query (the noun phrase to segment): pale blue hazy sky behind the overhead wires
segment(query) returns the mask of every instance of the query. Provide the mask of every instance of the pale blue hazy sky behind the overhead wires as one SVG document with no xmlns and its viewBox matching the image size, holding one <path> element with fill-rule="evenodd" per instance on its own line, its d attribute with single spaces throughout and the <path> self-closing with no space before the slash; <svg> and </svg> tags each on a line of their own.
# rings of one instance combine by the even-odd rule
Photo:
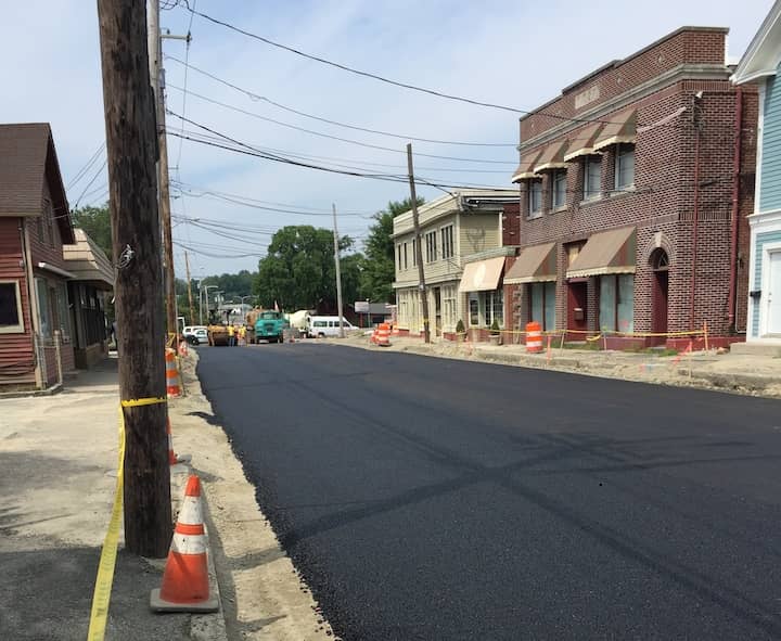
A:
<svg viewBox="0 0 781 641">
<path fill-rule="evenodd" d="M 430 0 L 334 0 L 278 2 L 190 0 L 190 5 L 248 31 L 389 78 L 482 101 L 535 108 L 598 66 L 631 54 L 682 25 L 730 28 L 729 56 L 737 60 L 759 27 L 771 0 L 658 0 L 642 11 L 625 0 L 588 3 L 551 0 L 545 12 L 532 2 Z M 174 4 L 174 0 L 164 0 Z M 162 12 L 164 28 L 184 34 L 191 14 L 182 7 Z M 508 143 L 470 148 L 414 143 L 417 154 L 458 156 L 469 162 L 417 157 L 418 172 L 450 183 L 509 188 L 517 161 L 517 115 L 423 95 L 360 78 L 273 49 L 210 24 L 192 21 L 189 61 L 251 93 L 342 123 L 405 136 Z M 185 46 L 166 40 L 167 55 L 184 59 Z M 0 23 L 0 78 L 5 88 L 0 121 L 50 121 L 66 184 L 104 140 L 98 18 L 94 1 L 27 0 L 7 3 Z M 189 91 L 256 115 L 329 136 L 393 148 L 383 151 L 295 131 L 230 111 L 190 94 L 182 104 L 184 69 L 166 61 L 168 107 L 196 123 L 264 149 L 315 156 L 370 172 L 401 174 L 405 140 L 354 131 L 280 110 L 190 69 Z M 182 123 L 169 116 L 168 128 Z M 185 125 L 187 130 L 197 130 Z M 202 131 L 203 133 L 203 131 Z M 180 151 L 181 149 L 181 151 Z M 323 159 L 323 158 L 331 159 Z M 338 158 L 338 159 L 333 159 Z M 105 198 L 103 157 L 68 190 L 72 206 Z M 340 232 L 360 241 L 370 216 L 389 200 L 408 195 L 404 183 L 381 182 L 281 165 L 169 138 L 175 190 L 177 275 L 184 275 L 183 245 L 194 275 L 255 270 L 270 234 L 285 225 L 331 227 L 331 203 Z M 498 161 L 485 163 L 479 161 Z M 87 183 L 94 182 L 87 189 Z M 293 205 L 315 216 L 247 208 L 203 196 L 206 191 Z M 422 195 L 439 193 L 422 188 Z M 82 195 L 84 194 L 84 195 Z M 200 196 L 200 197 L 199 197 Z M 270 205 L 273 207 L 274 205 Z M 279 208 L 290 207 L 282 206 Z M 196 219 L 188 222 L 185 219 Z M 201 219 L 199 221 L 197 219 Z M 217 235 L 199 225 L 241 235 Z M 232 228 L 244 227 L 238 233 Z M 218 257 L 210 257 L 213 254 Z M 241 258 L 232 258 L 249 254 Z"/>
</svg>

